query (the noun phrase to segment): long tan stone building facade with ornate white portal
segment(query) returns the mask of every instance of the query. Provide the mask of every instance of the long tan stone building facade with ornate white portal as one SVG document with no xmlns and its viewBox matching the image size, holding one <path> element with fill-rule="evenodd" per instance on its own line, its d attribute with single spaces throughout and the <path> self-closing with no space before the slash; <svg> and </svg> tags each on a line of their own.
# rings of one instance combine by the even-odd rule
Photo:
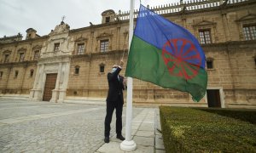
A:
<svg viewBox="0 0 256 153">
<path fill-rule="evenodd" d="M 181 1 L 151 8 L 201 42 L 207 94 L 195 103 L 188 93 L 134 79 L 134 103 L 256 108 L 255 8 L 253 0 Z M 61 21 L 43 37 L 29 28 L 25 40 L 20 34 L 0 38 L 0 96 L 50 102 L 105 99 L 108 71 L 123 56 L 127 61 L 128 30 L 129 13 L 110 9 L 102 13 L 102 24 L 70 29 Z"/>
</svg>

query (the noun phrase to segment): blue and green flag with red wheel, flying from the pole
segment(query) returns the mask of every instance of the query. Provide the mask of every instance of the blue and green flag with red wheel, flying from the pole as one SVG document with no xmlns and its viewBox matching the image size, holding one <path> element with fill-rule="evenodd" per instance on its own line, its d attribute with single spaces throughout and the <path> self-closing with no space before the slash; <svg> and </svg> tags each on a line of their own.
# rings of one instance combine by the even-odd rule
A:
<svg viewBox="0 0 256 153">
<path fill-rule="evenodd" d="M 200 101 L 207 90 L 205 54 L 182 26 L 140 6 L 125 76 L 188 92 Z"/>
</svg>

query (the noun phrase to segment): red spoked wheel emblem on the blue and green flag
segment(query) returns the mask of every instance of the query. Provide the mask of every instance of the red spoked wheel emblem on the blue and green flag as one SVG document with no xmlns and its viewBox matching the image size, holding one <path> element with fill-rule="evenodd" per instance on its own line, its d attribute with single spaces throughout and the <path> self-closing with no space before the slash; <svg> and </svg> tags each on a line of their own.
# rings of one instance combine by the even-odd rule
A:
<svg viewBox="0 0 256 153">
<path fill-rule="evenodd" d="M 195 45 L 187 39 L 171 39 L 162 48 L 162 58 L 172 76 L 186 80 L 198 74 L 201 56 Z"/>
</svg>

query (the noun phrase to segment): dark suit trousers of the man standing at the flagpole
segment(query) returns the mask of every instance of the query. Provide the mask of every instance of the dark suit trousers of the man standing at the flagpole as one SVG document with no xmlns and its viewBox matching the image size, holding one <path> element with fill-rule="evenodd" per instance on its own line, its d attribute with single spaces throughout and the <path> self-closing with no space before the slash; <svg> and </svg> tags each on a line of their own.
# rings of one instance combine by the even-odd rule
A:
<svg viewBox="0 0 256 153">
<path fill-rule="evenodd" d="M 122 134 L 122 113 L 123 113 L 123 103 L 119 97 L 118 101 L 107 101 L 107 115 L 105 117 L 105 137 L 109 137 L 110 133 L 110 123 L 112 121 L 113 110 L 115 109 L 116 115 L 116 134 Z"/>
</svg>

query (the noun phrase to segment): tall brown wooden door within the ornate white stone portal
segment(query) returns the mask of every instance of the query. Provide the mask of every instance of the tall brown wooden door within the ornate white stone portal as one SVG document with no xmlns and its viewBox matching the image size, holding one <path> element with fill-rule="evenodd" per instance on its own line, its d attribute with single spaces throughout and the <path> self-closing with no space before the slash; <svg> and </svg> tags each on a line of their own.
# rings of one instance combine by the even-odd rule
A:
<svg viewBox="0 0 256 153">
<path fill-rule="evenodd" d="M 46 75 L 43 101 L 49 101 L 51 99 L 52 90 L 55 89 L 56 80 L 57 80 L 57 73 Z"/>
</svg>

